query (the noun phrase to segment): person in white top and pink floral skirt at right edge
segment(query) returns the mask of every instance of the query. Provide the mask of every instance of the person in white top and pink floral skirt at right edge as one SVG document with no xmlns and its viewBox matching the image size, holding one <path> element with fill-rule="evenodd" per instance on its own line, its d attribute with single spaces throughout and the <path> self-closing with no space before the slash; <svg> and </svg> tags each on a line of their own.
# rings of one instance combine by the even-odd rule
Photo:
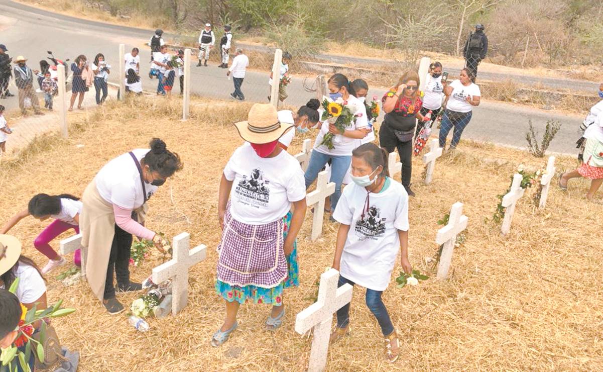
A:
<svg viewBox="0 0 603 372">
<path fill-rule="evenodd" d="M 599 114 L 595 122 L 584 131 L 584 154 L 582 165 L 572 172 L 563 173 L 559 178 L 559 187 L 567 190 L 567 181 L 572 178 L 590 179 L 590 190 L 586 199 L 593 200 L 595 193 L 603 184 L 603 115 Z"/>
</svg>

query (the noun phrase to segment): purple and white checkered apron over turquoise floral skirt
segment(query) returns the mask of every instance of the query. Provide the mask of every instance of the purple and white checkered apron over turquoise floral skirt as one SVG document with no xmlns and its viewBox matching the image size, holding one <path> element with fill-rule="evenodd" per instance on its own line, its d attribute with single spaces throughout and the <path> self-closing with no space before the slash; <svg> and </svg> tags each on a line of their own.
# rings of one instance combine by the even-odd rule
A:
<svg viewBox="0 0 603 372">
<path fill-rule="evenodd" d="M 283 219 L 266 225 L 247 225 L 233 219 L 230 205 L 218 245 L 218 280 L 232 286 L 272 288 L 285 280 Z"/>
</svg>

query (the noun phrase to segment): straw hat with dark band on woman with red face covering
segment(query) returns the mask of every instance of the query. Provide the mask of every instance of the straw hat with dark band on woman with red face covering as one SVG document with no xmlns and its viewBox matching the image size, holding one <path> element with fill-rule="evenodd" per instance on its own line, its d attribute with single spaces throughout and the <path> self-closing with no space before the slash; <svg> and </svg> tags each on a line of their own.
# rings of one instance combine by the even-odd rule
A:
<svg viewBox="0 0 603 372">
<path fill-rule="evenodd" d="M 281 123 L 279 114 L 270 103 L 256 103 L 251 106 L 246 121 L 235 123 L 242 139 L 249 143 L 264 144 L 276 141 L 293 124 Z"/>
</svg>

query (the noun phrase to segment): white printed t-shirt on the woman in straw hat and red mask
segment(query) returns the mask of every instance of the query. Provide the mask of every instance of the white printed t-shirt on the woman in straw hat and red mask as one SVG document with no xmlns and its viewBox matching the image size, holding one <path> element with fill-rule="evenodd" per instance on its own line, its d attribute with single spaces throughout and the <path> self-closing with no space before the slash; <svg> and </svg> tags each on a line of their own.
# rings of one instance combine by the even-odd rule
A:
<svg viewBox="0 0 603 372">
<path fill-rule="evenodd" d="M 233 181 L 230 214 L 248 225 L 282 219 L 291 210 L 292 202 L 306 197 L 300 164 L 285 150 L 274 158 L 260 158 L 245 143 L 230 157 L 224 176 Z"/>
</svg>

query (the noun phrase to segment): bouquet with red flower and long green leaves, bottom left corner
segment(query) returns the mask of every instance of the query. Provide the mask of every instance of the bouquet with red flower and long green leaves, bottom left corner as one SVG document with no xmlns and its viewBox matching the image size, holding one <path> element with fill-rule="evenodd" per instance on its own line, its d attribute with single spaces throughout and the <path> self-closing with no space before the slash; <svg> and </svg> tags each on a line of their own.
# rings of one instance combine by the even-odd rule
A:
<svg viewBox="0 0 603 372">
<path fill-rule="evenodd" d="M 11 284 L 9 292 L 16 293 L 17 286 L 19 286 L 19 278 L 15 278 L 13 284 Z M 8 371 L 17 370 L 17 362 L 14 361 L 17 358 L 21 369 L 25 372 L 30 372 L 30 366 L 27 362 L 31 358 L 31 353 L 35 353 L 39 361 L 45 361 L 44 347 L 43 344 L 46 341 L 46 318 L 58 318 L 59 316 L 69 315 L 75 312 L 75 309 L 62 308 L 63 300 L 58 300 L 54 306 L 48 307 L 48 309 L 37 310 L 37 304 L 34 305 L 30 310 L 21 304 L 21 320 L 19 320 L 18 328 L 19 333 L 17 338 L 14 340 L 10 347 L 3 348 L 0 354 L 2 371 L 5 369 Z M 37 321 L 40 322 L 40 341 L 37 341 L 31 336 L 34 333 L 33 324 Z M 19 351 L 18 348 L 25 345 L 25 351 Z"/>
</svg>

